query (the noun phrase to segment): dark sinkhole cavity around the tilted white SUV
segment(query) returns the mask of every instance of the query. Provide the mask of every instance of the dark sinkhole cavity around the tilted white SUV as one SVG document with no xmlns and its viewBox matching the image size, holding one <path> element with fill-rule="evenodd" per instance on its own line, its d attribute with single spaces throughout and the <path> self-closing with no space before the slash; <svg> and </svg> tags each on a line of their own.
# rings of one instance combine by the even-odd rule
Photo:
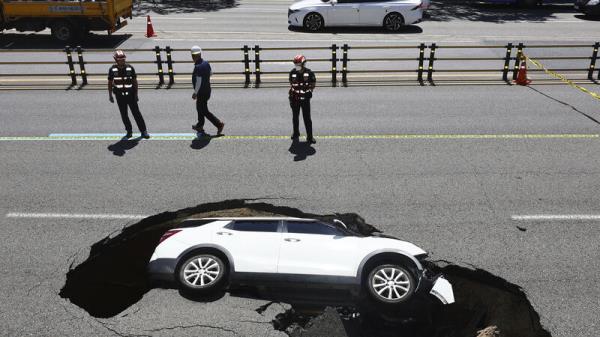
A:
<svg viewBox="0 0 600 337">
<path fill-rule="evenodd" d="M 227 200 L 166 212 L 143 219 L 91 248 L 83 263 L 69 270 L 60 296 L 85 309 L 94 317 L 112 317 L 136 303 L 150 290 L 146 266 L 154 247 L 167 230 L 190 216 L 292 216 L 331 222 L 342 220 L 364 235 L 379 231 L 357 214 L 316 215 L 298 209 L 246 200 Z M 274 317 L 274 328 L 292 337 L 299 336 L 413 336 L 473 337 L 492 333 L 502 337 L 550 337 L 522 289 L 484 270 L 468 269 L 443 262 L 428 262 L 452 283 L 456 303 L 442 307 L 435 302 L 411 303 L 402 310 L 325 305 L 295 305 Z M 259 292 L 260 293 L 260 292 Z M 235 296 L 234 292 L 231 292 Z M 273 297 L 274 294 L 270 294 Z M 258 298 L 258 297 L 257 297 Z M 262 298 L 261 298 L 262 299 Z M 203 299 L 198 299 L 203 300 Z M 417 299 L 415 299 L 417 300 Z M 269 305 L 261 306 L 264 312 Z M 288 302 L 289 303 L 289 302 Z M 417 310 L 418 309 L 418 310 Z M 497 327 L 491 329 L 492 327 Z M 493 330 L 493 331 L 492 331 Z M 483 337 L 478 336 L 478 337 Z"/>
</svg>

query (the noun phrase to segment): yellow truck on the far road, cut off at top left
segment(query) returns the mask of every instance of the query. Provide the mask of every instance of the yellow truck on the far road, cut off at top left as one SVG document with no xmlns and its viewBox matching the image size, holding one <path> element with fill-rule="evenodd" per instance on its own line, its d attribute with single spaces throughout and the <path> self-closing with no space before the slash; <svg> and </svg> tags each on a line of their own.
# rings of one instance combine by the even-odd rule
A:
<svg viewBox="0 0 600 337">
<path fill-rule="evenodd" d="M 0 0 L 0 32 L 50 28 L 60 41 L 78 41 L 92 30 L 112 34 L 127 24 L 132 10 L 132 0 Z"/>
</svg>

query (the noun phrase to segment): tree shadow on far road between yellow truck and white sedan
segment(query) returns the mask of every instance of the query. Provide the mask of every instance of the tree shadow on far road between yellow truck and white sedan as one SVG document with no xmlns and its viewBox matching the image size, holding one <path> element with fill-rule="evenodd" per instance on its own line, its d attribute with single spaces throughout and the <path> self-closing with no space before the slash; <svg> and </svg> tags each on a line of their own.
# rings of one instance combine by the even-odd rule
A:
<svg viewBox="0 0 600 337">
<path fill-rule="evenodd" d="M 214 12 L 239 6 L 237 0 L 134 0 L 134 3 L 133 15 Z"/>
</svg>

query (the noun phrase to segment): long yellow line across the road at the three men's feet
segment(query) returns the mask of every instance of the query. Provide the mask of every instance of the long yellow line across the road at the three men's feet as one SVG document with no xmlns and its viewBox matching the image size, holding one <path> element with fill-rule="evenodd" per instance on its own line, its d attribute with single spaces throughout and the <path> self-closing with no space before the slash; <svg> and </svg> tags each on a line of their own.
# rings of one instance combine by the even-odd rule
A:
<svg viewBox="0 0 600 337">
<path fill-rule="evenodd" d="M 138 134 L 134 136 L 139 137 Z M 151 133 L 149 140 L 194 140 L 194 133 Z M 281 135 L 225 135 L 212 136 L 214 140 L 289 140 L 289 136 Z M 348 134 L 321 135 L 317 139 L 350 140 L 350 139 L 397 139 L 397 140 L 478 140 L 478 139 L 598 139 L 600 134 Z M 49 136 L 33 137 L 0 137 L 0 141 L 101 141 L 121 140 L 123 134 L 117 133 L 53 133 Z M 148 140 L 144 140 L 148 141 Z"/>
</svg>

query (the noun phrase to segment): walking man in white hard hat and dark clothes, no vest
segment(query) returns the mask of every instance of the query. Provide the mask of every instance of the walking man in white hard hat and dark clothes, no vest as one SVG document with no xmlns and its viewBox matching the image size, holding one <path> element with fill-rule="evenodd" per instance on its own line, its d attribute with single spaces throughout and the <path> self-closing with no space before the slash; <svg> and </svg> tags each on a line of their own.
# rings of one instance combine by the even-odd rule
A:
<svg viewBox="0 0 600 337">
<path fill-rule="evenodd" d="M 196 110 L 198 111 L 198 124 L 192 125 L 192 129 L 199 134 L 204 134 L 204 118 L 206 117 L 217 128 L 217 135 L 222 135 L 225 123 L 221 122 L 208 110 L 208 100 L 211 93 L 210 75 L 212 73 L 210 64 L 202 59 L 202 49 L 200 47 L 193 46 L 191 52 L 194 60 L 194 72 L 192 74 L 194 93 L 192 99 L 196 100 Z"/>
</svg>

